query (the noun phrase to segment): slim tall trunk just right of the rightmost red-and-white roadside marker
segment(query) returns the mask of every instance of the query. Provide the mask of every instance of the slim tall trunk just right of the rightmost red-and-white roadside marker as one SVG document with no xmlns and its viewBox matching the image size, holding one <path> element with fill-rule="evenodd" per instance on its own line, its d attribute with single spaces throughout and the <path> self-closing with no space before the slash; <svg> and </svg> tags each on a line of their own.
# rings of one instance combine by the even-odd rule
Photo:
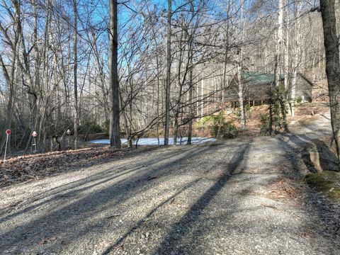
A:
<svg viewBox="0 0 340 255">
<path fill-rule="evenodd" d="M 77 84 L 77 69 L 78 69 L 78 55 L 77 55 L 77 0 L 73 0 L 74 11 L 74 42 L 73 42 L 73 54 L 74 54 L 74 149 L 78 149 L 78 125 L 79 125 L 79 108 L 78 108 L 78 84 Z"/>
</svg>

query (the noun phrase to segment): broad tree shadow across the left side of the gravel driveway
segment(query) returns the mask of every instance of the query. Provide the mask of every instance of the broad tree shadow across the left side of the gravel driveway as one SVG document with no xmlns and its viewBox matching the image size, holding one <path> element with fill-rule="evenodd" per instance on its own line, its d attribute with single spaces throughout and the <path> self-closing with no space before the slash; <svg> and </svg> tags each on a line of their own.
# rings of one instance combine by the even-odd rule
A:
<svg viewBox="0 0 340 255">
<path fill-rule="evenodd" d="M 84 225 L 86 220 L 90 220 L 101 212 L 121 205 L 125 200 L 143 191 L 149 183 L 149 176 L 158 176 L 159 179 L 173 178 L 173 175 L 176 173 L 169 171 L 171 166 L 191 157 L 205 154 L 208 149 L 209 147 L 192 147 L 184 152 L 175 153 L 175 157 L 171 157 L 170 152 L 170 159 L 166 162 L 160 162 L 159 165 L 154 167 L 138 169 L 140 171 L 136 171 L 133 176 L 125 177 L 125 179 L 114 183 L 111 183 L 109 179 L 114 179 L 114 174 L 116 173 L 113 173 L 113 176 L 110 176 L 110 174 L 108 176 L 101 176 L 99 174 L 99 176 L 95 176 L 95 179 L 100 179 L 95 184 L 98 186 L 98 190 L 91 190 L 90 193 L 84 196 L 77 196 L 77 198 L 71 201 L 66 200 L 67 203 L 64 205 L 54 206 L 54 200 L 51 198 L 48 205 L 38 205 L 38 210 L 40 209 L 39 207 L 43 210 L 41 211 L 40 209 L 38 215 L 32 215 L 31 211 L 33 208 L 21 212 L 21 216 L 27 215 L 32 220 L 26 221 L 21 218 L 21 224 L 18 225 L 15 222 L 17 227 L 7 227 L 6 231 L 1 231 L 1 249 L 11 250 L 17 247 L 18 249 L 29 250 L 31 247 L 36 246 L 41 239 L 61 236 L 65 233 L 67 233 L 69 240 L 78 239 L 81 236 L 81 231 L 77 230 L 78 227 Z M 153 160 L 147 159 L 145 164 L 147 162 L 153 162 Z M 84 183 L 89 183 L 90 186 L 91 181 L 94 181 L 93 177 L 92 179 L 83 180 Z M 100 186 L 104 183 L 104 186 Z M 84 188 L 86 189 L 86 187 Z M 67 191 L 69 194 L 72 194 L 72 192 L 72 190 Z M 6 220 L 16 220 L 15 216 L 13 215 Z M 94 228 L 96 226 L 91 227 Z"/>
</svg>

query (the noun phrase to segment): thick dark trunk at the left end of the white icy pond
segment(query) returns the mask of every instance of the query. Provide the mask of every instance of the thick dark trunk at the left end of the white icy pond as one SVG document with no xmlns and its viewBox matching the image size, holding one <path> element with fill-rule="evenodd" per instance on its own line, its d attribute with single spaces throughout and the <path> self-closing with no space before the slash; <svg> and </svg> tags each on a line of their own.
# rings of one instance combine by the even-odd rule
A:
<svg viewBox="0 0 340 255">
<path fill-rule="evenodd" d="M 110 0 L 109 87 L 111 100 L 110 145 L 120 149 L 119 89 L 118 89 L 118 17 L 117 0 Z"/>
</svg>

